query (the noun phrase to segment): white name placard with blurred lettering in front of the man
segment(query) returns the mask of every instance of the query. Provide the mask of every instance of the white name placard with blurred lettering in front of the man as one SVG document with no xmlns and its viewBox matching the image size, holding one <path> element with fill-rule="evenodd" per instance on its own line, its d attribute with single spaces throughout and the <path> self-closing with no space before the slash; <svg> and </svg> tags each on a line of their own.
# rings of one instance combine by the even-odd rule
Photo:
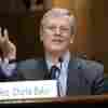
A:
<svg viewBox="0 0 108 108">
<path fill-rule="evenodd" d="M 57 97 L 56 80 L 0 83 L 0 100 Z"/>
</svg>

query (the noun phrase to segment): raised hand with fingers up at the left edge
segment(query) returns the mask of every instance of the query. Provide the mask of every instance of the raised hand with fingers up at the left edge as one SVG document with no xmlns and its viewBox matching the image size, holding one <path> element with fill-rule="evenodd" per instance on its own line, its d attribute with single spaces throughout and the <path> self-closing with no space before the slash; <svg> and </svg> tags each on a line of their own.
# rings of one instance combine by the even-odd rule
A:
<svg viewBox="0 0 108 108">
<path fill-rule="evenodd" d="M 3 52 L 3 57 L 8 59 L 16 58 L 16 46 L 9 40 L 8 29 L 4 29 L 2 32 L 2 28 L 0 27 L 0 48 Z"/>
</svg>

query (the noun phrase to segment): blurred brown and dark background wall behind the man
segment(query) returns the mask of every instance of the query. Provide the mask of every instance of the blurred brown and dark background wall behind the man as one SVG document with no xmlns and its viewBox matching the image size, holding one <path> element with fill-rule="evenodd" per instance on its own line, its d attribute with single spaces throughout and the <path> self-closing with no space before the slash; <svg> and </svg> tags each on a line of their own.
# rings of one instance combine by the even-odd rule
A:
<svg viewBox="0 0 108 108">
<path fill-rule="evenodd" d="M 108 75 L 108 0 L 0 0 L 0 26 L 9 29 L 17 46 L 17 58 L 42 56 L 39 25 L 43 13 L 53 8 L 67 8 L 77 16 L 77 36 L 71 51 L 105 65 Z"/>
</svg>

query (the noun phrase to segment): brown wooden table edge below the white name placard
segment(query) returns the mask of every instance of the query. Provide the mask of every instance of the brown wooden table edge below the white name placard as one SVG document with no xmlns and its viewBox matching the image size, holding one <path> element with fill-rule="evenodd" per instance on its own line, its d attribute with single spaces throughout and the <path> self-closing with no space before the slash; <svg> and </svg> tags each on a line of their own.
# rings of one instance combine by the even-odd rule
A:
<svg viewBox="0 0 108 108">
<path fill-rule="evenodd" d="M 14 99 L 0 100 L 0 104 L 5 105 L 23 105 L 23 104 L 103 104 L 108 103 L 108 95 L 93 95 L 93 96 L 71 96 L 59 98 L 33 98 L 33 99 Z"/>
</svg>

